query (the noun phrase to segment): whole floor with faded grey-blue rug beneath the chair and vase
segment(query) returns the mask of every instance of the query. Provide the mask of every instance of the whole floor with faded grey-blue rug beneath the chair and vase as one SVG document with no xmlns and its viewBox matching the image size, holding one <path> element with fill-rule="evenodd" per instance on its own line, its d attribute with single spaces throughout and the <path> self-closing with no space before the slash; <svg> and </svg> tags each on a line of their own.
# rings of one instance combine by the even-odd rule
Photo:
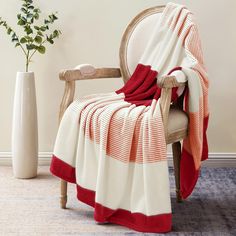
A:
<svg viewBox="0 0 236 236">
<path fill-rule="evenodd" d="M 236 169 L 203 168 L 192 196 L 175 203 L 173 231 L 165 235 L 236 235 Z M 59 208 L 59 181 L 41 166 L 38 177 L 14 179 L 11 167 L 0 167 L 0 235 L 149 235 L 93 220 L 93 209 L 76 199 L 69 185 L 67 210 Z"/>
</svg>

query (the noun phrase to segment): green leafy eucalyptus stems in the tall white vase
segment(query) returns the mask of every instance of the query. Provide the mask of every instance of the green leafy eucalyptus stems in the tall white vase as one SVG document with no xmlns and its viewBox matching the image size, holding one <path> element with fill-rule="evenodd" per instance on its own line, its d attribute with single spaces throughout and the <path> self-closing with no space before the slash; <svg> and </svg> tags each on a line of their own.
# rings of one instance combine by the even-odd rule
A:
<svg viewBox="0 0 236 236">
<path fill-rule="evenodd" d="M 11 36 L 11 41 L 15 47 L 20 47 L 25 55 L 26 63 L 25 70 L 28 72 L 29 64 L 36 52 L 44 54 L 46 51 L 45 44 L 54 43 L 54 39 L 61 34 L 60 30 L 53 30 L 49 32 L 50 25 L 57 20 L 57 13 L 50 14 L 43 23 L 37 24 L 40 17 L 40 9 L 34 6 L 33 0 L 21 0 L 21 12 L 17 14 L 17 24 L 23 27 L 25 35 L 19 37 L 6 21 L 0 17 L 0 25 L 2 25 L 7 34 Z"/>
</svg>

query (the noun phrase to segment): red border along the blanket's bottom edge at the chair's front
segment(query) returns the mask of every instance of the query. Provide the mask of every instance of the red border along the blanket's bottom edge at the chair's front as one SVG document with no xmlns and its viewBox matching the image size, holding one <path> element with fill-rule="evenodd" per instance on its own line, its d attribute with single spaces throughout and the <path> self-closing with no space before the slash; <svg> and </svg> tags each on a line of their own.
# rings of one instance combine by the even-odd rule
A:
<svg viewBox="0 0 236 236">
<path fill-rule="evenodd" d="M 56 156 L 52 157 L 50 171 L 53 175 L 65 181 L 75 183 L 75 168 L 60 160 Z M 140 232 L 164 233 L 171 231 L 172 214 L 160 214 L 146 216 L 141 213 L 132 213 L 124 209 L 112 210 L 95 202 L 95 191 L 77 187 L 78 200 L 94 207 L 94 219 L 99 223 L 114 223 Z"/>
</svg>

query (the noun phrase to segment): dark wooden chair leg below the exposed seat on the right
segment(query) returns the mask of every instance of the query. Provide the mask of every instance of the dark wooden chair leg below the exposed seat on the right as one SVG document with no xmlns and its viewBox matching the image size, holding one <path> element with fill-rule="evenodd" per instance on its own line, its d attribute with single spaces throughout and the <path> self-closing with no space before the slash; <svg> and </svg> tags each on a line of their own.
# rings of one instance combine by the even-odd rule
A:
<svg viewBox="0 0 236 236">
<path fill-rule="evenodd" d="M 176 186 L 176 201 L 182 202 L 180 193 L 180 160 L 181 160 L 181 143 L 176 142 L 172 144 L 174 172 L 175 172 L 175 186 Z"/>
</svg>

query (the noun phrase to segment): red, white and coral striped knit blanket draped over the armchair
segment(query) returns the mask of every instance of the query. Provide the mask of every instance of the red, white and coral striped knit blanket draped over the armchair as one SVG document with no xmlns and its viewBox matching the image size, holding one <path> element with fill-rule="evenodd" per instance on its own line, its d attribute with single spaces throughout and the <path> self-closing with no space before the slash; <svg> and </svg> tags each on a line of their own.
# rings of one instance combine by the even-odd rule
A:
<svg viewBox="0 0 236 236">
<path fill-rule="evenodd" d="M 77 186 L 97 222 L 142 232 L 171 230 L 166 142 L 157 78 L 188 80 L 189 135 L 181 161 L 181 194 L 191 194 L 208 156 L 208 79 L 193 14 L 167 4 L 130 80 L 116 92 L 74 101 L 56 138 L 51 172 Z M 175 100 L 183 91 L 173 89 Z"/>
</svg>

